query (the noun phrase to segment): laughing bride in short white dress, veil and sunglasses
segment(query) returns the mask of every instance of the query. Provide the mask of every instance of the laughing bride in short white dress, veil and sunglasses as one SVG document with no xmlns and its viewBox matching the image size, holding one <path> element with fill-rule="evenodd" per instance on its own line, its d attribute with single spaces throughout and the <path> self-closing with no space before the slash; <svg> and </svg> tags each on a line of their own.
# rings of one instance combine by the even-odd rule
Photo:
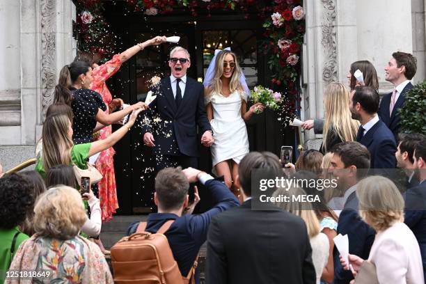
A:
<svg viewBox="0 0 426 284">
<path fill-rule="evenodd" d="M 253 104 L 247 110 L 249 91 L 246 79 L 230 49 L 216 50 L 207 69 L 204 86 L 207 118 L 214 137 L 211 147 L 213 166 L 242 203 L 239 189 L 232 181 L 237 178 L 239 161 L 248 153 L 244 120 L 250 119 L 253 113 L 262 112 L 264 106 Z"/>
</svg>

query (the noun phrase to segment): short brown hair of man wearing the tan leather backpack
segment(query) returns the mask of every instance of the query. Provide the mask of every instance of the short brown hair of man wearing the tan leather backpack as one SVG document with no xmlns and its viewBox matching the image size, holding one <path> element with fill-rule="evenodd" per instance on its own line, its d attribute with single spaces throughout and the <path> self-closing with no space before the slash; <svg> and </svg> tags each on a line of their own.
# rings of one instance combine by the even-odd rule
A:
<svg viewBox="0 0 426 284">
<path fill-rule="evenodd" d="M 188 194 L 189 182 L 182 168 L 164 168 L 155 178 L 155 192 L 162 210 L 178 210 Z"/>
</svg>

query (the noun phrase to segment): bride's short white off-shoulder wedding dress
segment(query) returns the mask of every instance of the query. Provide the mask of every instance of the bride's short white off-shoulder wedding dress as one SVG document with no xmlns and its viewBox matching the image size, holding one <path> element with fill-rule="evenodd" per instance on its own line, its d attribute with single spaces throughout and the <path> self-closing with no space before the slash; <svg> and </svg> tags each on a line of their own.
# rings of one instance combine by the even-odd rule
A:
<svg viewBox="0 0 426 284">
<path fill-rule="evenodd" d="M 228 97 L 212 92 L 205 99 L 205 104 L 212 103 L 212 125 L 214 143 L 212 145 L 213 166 L 228 159 L 237 164 L 248 153 L 246 123 L 241 116 L 242 100 L 247 97 L 235 90 Z"/>
</svg>

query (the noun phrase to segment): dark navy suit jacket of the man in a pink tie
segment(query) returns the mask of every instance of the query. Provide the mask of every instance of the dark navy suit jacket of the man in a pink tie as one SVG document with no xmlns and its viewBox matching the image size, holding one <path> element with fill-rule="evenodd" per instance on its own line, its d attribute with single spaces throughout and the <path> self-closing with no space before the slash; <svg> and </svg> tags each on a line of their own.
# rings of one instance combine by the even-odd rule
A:
<svg viewBox="0 0 426 284">
<path fill-rule="evenodd" d="M 400 113 L 398 113 L 398 109 L 401 109 L 404 106 L 405 102 L 405 92 L 407 90 L 413 88 L 413 85 L 411 83 L 407 84 L 405 88 L 400 93 L 400 96 L 398 97 L 398 100 L 395 102 L 395 107 L 393 107 L 392 115 L 389 113 L 389 106 L 390 106 L 390 100 L 392 98 L 392 93 L 388 93 L 387 95 L 384 95 L 381 99 L 380 106 L 379 106 L 379 118 L 381 121 L 384 122 L 384 124 L 390 129 L 390 131 L 393 133 L 393 136 L 395 136 L 395 140 L 397 140 L 397 135 L 400 132 Z"/>
</svg>

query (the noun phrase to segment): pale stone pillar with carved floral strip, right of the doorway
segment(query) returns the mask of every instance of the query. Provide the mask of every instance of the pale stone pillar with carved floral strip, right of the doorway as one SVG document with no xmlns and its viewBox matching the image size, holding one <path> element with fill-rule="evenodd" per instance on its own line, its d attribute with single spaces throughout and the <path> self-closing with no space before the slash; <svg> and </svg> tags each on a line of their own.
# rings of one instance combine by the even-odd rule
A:
<svg viewBox="0 0 426 284">
<path fill-rule="evenodd" d="M 345 82 L 348 54 L 356 56 L 357 29 L 354 1 L 306 1 L 306 47 L 303 57 L 302 120 L 324 116 L 323 93 L 334 81 Z M 346 56 L 341 56 L 346 54 Z M 342 68 L 343 66 L 343 68 Z M 318 148 L 321 135 L 305 131 L 309 148 Z"/>
</svg>

